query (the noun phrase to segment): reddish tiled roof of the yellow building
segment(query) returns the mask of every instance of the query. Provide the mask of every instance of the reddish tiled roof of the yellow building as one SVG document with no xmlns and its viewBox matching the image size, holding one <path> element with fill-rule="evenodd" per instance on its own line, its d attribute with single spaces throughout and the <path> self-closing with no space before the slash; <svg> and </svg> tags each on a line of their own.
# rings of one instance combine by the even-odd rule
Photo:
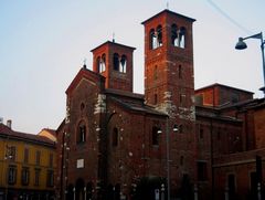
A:
<svg viewBox="0 0 265 200">
<path fill-rule="evenodd" d="M 34 134 L 15 131 L 9 128 L 8 126 L 6 126 L 4 124 L 0 124 L 0 137 L 14 139 L 14 140 L 22 140 L 26 143 L 33 143 L 36 145 L 55 147 L 55 144 L 46 137 L 34 135 Z"/>
</svg>

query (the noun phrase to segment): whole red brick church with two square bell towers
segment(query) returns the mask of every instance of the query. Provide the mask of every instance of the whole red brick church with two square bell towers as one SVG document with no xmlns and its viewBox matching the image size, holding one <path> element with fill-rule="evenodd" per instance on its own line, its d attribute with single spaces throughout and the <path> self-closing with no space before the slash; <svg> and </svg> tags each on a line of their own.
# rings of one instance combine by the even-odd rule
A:
<svg viewBox="0 0 265 200">
<path fill-rule="evenodd" d="M 262 193 L 265 102 L 222 84 L 194 91 L 194 21 L 163 10 L 142 22 L 144 95 L 132 92 L 135 48 L 92 50 L 93 71 L 84 65 L 70 84 L 56 131 L 60 199 Z"/>
</svg>

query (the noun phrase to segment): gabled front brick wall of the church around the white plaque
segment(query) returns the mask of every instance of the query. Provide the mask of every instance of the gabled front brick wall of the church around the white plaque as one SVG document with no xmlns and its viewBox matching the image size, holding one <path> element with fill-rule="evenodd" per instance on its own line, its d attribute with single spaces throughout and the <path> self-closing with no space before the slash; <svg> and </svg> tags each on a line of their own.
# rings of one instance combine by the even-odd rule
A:
<svg viewBox="0 0 265 200">
<path fill-rule="evenodd" d="M 67 171 L 67 185 L 75 185 L 76 180 L 82 178 L 85 180 L 85 185 L 92 181 L 96 186 L 98 166 L 98 131 L 96 131 L 96 128 L 99 126 L 99 117 L 94 112 L 100 92 L 99 85 L 98 82 L 92 83 L 84 78 L 67 96 L 70 106 L 70 123 L 66 124 L 66 133 L 70 137 L 65 141 L 70 147 L 65 169 Z M 83 109 L 82 103 L 85 105 Z M 84 144 L 77 144 L 76 141 L 81 120 L 84 120 L 86 125 L 86 141 Z M 84 168 L 76 168 L 77 159 L 84 159 Z"/>
</svg>

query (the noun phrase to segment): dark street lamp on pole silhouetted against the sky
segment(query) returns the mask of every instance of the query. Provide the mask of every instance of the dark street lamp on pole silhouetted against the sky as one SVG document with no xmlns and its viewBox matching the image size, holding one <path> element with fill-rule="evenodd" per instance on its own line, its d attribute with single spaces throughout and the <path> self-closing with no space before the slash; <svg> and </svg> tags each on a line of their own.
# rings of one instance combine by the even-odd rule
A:
<svg viewBox="0 0 265 200">
<path fill-rule="evenodd" d="M 246 43 L 244 42 L 244 40 L 247 39 L 259 39 L 261 40 L 261 49 L 262 49 L 262 61 L 263 61 L 263 87 L 259 88 L 259 91 L 263 91 L 264 95 L 265 95 L 265 57 L 264 57 L 264 44 L 265 41 L 263 40 L 263 33 L 257 33 L 251 36 L 246 36 L 246 38 L 239 38 L 239 42 L 235 45 L 236 50 L 244 50 L 247 48 Z"/>
</svg>

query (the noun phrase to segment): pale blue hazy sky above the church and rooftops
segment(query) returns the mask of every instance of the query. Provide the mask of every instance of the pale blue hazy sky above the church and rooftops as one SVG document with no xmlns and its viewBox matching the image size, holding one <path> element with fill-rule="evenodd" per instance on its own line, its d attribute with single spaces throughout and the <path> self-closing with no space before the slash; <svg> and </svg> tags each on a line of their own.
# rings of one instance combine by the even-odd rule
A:
<svg viewBox="0 0 265 200">
<path fill-rule="evenodd" d="M 14 130 L 56 129 L 65 117 L 65 91 L 91 50 L 115 40 L 135 46 L 134 92 L 144 94 L 144 27 L 169 9 L 193 23 L 194 86 L 213 83 L 251 91 L 264 85 L 261 41 L 239 36 L 265 31 L 264 0 L 1 0 L 0 117 Z"/>
</svg>

